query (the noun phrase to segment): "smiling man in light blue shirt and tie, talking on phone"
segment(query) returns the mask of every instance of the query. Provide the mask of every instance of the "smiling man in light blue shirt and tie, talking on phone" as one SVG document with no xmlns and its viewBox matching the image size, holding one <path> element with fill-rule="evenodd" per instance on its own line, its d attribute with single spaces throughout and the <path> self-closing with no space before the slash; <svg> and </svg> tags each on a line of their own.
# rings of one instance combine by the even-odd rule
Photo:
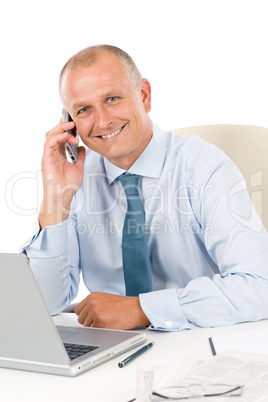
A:
<svg viewBox="0 0 268 402">
<path fill-rule="evenodd" d="M 121 49 L 79 52 L 59 87 L 73 122 L 47 133 L 39 224 L 23 249 L 51 313 L 76 297 L 82 272 L 89 295 L 75 312 L 85 326 L 172 331 L 268 318 L 268 235 L 252 229 L 259 218 L 232 161 L 151 122 L 150 84 Z M 77 163 L 65 155 L 74 127 L 86 146 Z"/>
</svg>

